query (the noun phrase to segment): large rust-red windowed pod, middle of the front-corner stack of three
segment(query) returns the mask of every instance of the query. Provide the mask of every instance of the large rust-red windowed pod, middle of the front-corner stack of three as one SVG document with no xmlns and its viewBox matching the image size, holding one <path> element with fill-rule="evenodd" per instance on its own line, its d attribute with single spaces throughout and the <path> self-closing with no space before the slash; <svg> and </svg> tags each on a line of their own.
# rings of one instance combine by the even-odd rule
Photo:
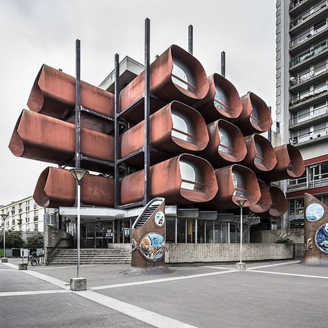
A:
<svg viewBox="0 0 328 328">
<path fill-rule="evenodd" d="M 140 122 L 120 137 L 120 157 L 125 157 L 145 143 L 145 122 Z M 169 154 L 199 152 L 208 145 L 208 129 L 201 114 L 182 102 L 170 102 L 150 116 L 150 143 Z M 129 163 L 143 165 L 143 154 Z M 152 154 L 152 164 L 167 159 L 163 154 Z"/>
</svg>

